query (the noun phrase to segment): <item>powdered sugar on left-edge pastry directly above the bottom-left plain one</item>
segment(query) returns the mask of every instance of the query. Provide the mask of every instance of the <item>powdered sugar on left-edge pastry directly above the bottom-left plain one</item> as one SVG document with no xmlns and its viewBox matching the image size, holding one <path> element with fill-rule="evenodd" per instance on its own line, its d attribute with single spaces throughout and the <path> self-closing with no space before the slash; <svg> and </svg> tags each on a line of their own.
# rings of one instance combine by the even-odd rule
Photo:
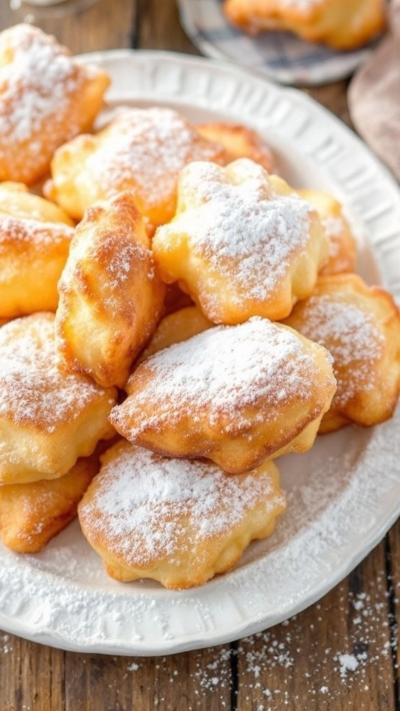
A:
<svg viewBox="0 0 400 711">
<path fill-rule="evenodd" d="M 0 417 L 49 433 L 105 392 L 81 375 L 60 373 L 53 318 L 27 316 L 0 330 Z"/>
</svg>

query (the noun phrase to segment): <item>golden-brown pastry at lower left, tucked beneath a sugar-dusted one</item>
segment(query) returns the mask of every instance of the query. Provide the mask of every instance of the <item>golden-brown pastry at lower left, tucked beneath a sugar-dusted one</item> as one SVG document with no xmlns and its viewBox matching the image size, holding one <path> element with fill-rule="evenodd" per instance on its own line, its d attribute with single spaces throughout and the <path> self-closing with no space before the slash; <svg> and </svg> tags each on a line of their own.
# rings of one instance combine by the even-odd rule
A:
<svg viewBox="0 0 400 711">
<path fill-rule="evenodd" d="M 100 469 L 95 454 L 81 457 L 59 479 L 0 486 L 0 538 L 18 553 L 36 553 L 77 514 L 90 481 Z"/>
</svg>

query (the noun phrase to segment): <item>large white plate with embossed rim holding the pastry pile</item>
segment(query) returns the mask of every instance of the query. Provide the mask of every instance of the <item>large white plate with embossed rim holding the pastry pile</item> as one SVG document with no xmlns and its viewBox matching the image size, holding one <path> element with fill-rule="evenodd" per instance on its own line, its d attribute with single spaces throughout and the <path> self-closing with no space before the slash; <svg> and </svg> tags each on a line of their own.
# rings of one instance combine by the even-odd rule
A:
<svg viewBox="0 0 400 711">
<path fill-rule="evenodd" d="M 194 120 L 257 129 L 293 185 L 327 188 L 344 201 L 359 228 L 360 271 L 399 299 L 399 188 L 338 119 L 296 90 L 210 60 L 129 50 L 88 57 L 112 75 L 111 105 L 169 105 Z M 281 459 L 289 506 L 278 530 L 196 589 L 113 581 L 77 521 L 40 554 L 0 547 L 1 628 L 64 649 L 146 656 L 283 621 L 345 577 L 399 515 L 399 421 L 400 410 L 379 427 L 349 427 Z"/>
</svg>

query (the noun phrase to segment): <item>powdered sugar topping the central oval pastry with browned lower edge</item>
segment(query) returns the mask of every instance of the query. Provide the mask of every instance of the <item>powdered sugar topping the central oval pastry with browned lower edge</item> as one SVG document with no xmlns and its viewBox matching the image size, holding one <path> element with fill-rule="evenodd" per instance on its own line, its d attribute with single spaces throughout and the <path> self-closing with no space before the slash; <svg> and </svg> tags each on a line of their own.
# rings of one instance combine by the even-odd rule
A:
<svg viewBox="0 0 400 711">
<path fill-rule="evenodd" d="M 135 372 L 128 384 L 133 400 L 128 399 L 112 412 L 115 422 L 120 410 L 154 404 L 154 419 L 170 422 L 179 418 L 181 408 L 191 406 L 196 427 L 196 408 L 208 412 L 210 424 L 219 422 L 226 432 L 246 426 L 246 408 L 264 400 L 264 407 L 252 412 L 251 422 L 280 417 L 283 403 L 290 400 L 311 402 L 310 383 L 320 366 L 288 328 L 255 317 L 239 326 L 216 326 L 184 343 L 177 343 L 156 353 L 140 366 L 154 373 L 144 390 L 135 391 Z M 199 353 L 201 356 L 199 357 Z M 265 403 L 268 403 L 265 404 Z M 221 423 L 221 414 L 226 423 Z M 137 418 L 138 419 L 138 418 Z M 132 435 L 139 434 L 143 422 L 132 425 Z M 249 423 L 250 424 L 250 421 Z"/>
</svg>

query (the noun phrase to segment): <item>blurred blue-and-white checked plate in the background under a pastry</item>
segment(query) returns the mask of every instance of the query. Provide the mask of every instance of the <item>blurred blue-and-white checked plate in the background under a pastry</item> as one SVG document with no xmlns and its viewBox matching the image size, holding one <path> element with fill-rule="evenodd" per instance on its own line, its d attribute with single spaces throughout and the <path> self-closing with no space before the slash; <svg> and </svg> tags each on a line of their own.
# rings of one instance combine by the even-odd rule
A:
<svg viewBox="0 0 400 711">
<path fill-rule="evenodd" d="M 248 36 L 226 21 L 223 0 L 178 0 L 181 24 L 202 53 L 257 70 L 281 84 L 318 85 L 349 77 L 373 44 L 337 52 L 290 32 Z"/>
</svg>

